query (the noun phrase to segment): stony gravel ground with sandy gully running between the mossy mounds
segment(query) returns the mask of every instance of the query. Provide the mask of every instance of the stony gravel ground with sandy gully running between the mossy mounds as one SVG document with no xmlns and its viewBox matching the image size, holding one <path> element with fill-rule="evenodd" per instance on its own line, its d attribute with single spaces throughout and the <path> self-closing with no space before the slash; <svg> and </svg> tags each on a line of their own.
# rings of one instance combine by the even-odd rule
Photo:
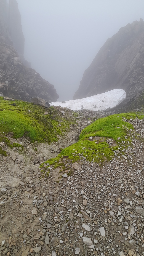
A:
<svg viewBox="0 0 144 256">
<path fill-rule="evenodd" d="M 7 156 L 0 156 L 0 256 L 144 255 L 144 119 L 129 120 L 132 143 L 126 150 L 120 143 L 110 161 L 81 157 L 69 161 L 70 173 L 49 167 L 49 176 L 39 169 L 109 114 L 79 112 L 77 124 L 51 145 L 9 135 L 23 150 L 5 146 Z"/>
</svg>

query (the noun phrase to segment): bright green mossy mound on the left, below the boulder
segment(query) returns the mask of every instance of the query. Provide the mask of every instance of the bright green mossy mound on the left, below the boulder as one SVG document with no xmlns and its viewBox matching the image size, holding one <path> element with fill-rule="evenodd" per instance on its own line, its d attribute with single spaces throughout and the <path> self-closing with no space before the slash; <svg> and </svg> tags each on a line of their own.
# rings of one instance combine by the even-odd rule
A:
<svg viewBox="0 0 144 256">
<path fill-rule="evenodd" d="M 48 114 L 44 115 L 47 111 Z M 29 137 L 31 142 L 58 141 L 75 123 L 75 117 L 70 115 L 63 118 L 58 108 L 44 108 L 33 103 L 15 100 L 11 102 L 0 97 L 0 137 L 12 134 L 14 138 L 23 135 Z"/>
</svg>

